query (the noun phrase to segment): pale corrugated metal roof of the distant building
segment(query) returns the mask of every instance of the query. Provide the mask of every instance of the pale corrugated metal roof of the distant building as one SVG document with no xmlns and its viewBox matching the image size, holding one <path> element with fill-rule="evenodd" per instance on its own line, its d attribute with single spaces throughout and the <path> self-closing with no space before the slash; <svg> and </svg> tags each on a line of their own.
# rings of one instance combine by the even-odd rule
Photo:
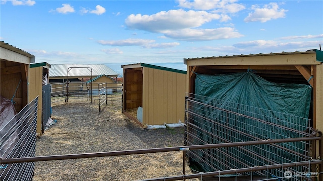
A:
<svg viewBox="0 0 323 181">
<path fill-rule="evenodd" d="M 87 69 L 88 67 L 88 69 Z M 70 68 L 70 69 L 69 69 Z M 67 77 L 67 71 L 69 69 L 69 77 L 82 77 L 82 76 L 92 76 L 96 77 L 99 75 L 107 76 L 117 76 L 117 72 L 112 70 L 110 67 L 107 67 L 104 64 L 52 64 L 49 70 L 49 77 Z"/>
</svg>

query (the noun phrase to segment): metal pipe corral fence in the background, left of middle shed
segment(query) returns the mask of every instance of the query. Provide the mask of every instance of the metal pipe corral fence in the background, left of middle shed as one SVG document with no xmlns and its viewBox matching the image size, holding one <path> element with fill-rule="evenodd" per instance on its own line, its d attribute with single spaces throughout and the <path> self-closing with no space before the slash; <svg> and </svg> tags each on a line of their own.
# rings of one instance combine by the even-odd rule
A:
<svg viewBox="0 0 323 181">
<path fill-rule="evenodd" d="M 122 90 L 122 83 L 55 83 L 51 84 L 51 102 L 68 102 L 68 100 L 73 99 L 90 101 L 92 103 L 97 102 L 97 104 L 99 105 L 99 111 L 101 111 L 101 106 L 104 104 L 104 101 L 106 104 L 109 101 L 122 102 Z"/>
</svg>

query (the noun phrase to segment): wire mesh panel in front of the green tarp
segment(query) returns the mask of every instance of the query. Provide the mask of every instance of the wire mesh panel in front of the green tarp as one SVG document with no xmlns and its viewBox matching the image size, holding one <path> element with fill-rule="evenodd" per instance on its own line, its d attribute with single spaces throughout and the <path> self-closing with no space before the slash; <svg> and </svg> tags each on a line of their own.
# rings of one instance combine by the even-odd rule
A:
<svg viewBox="0 0 323 181">
<path fill-rule="evenodd" d="M 238 103 L 189 94 L 186 98 L 186 145 L 245 142 L 309 136 L 309 119 Z M 309 142 L 289 142 L 189 151 L 205 172 L 310 160 Z M 309 172 L 308 166 L 290 168 Z M 281 175 L 264 170 L 254 175 Z M 251 174 L 251 173 L 245 173 Z"/>
</svg>

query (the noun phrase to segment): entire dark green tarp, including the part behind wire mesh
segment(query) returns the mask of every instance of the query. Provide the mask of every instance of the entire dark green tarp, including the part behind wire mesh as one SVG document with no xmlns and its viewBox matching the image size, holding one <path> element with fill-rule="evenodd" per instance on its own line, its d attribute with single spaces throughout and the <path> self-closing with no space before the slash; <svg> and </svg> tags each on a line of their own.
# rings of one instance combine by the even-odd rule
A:
<svg viewBox="0 0 323 181">
<path fill-rule="evenodd" d="M 208 99 L 201 98 L 203 104 L 191 105 L 190 111 L 195 114 L 189 115 L 188 127 L 194 128 L 188 130 L 194 130 L 194 138 L 189 142 L 212 144 L 303 137 L 302 133 L 308 128 L 311 92 L 310 85 L 277 84 L 250 71 L 196 74 L 195 97 Z M 305 142 L 277 145 L 212 149 L 207 154 L 197 150 L 192 151 L 192 157 L 198 163 L 195 166 L 203 171 L 304 161 L 286 149 L 303 154 Z M 229 159 L 225 153 L 234 159 Z M 274 171 L 273 175 L 279 172 Z"/>
</svg>

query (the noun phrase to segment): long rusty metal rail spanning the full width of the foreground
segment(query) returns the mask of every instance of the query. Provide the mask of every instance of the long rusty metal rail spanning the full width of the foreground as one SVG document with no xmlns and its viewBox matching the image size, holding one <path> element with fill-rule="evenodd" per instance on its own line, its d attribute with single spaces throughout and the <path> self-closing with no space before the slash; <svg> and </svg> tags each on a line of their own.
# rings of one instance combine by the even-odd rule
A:
<svg viewBox="0 0 323 181">
<path fill-rule="evenodd" d="M 322 139 L 322 136 L 248 141 L 248 142 L 217 143 L 217 144 L 207 144 L 207 145 L 177 146 L 177 147 L 166 147 L 166 148 L 151 148 L 151 149 L 141 149 L 141 150 L 11 158 L 11 159 L 0 159 L 0 165 L 9 164 L 9 163 L 24 163 L 24 162 L 36 162 L 36 161 L 68 160 L 68 159 L 78 159 L 78 158 L 95 158 L 95 157 L 105 157 L 105 156 L 122 156 L 122 155 L 134 155 L 134 154 L 146 154 L 146 153 L 171 152 L 171 151 L 183 150 L 183 148 L 186 148 L 186 150 L 198 150 L 198 149 L 207 149 L 207 148 L 262 145 L 262 144 L 271 144 L 271 143 L 310 141 L 310 140 L 320 140 L 320 139 Z"/>
</svg>

